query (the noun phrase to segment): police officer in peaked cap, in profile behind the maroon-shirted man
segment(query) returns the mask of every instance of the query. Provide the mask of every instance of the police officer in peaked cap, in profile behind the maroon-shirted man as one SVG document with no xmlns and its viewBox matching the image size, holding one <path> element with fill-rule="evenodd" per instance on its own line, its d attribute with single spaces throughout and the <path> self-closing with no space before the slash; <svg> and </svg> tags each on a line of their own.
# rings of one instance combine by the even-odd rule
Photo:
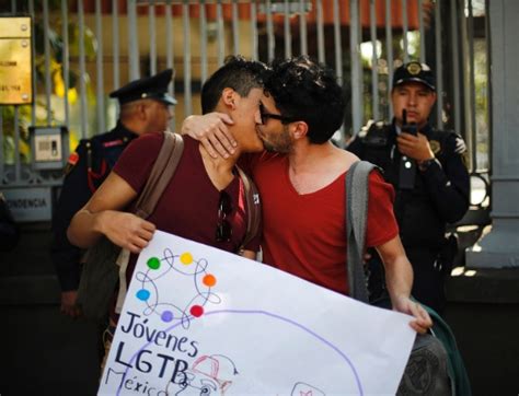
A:
<svg viewBox="0 0 519 396">
<path fill-rule="evenodd" d="M 61 288 L 61 312 L 77 317 L 77 290 L 81 273 L 82 252 L 67 240 L 67 228 L 73 214 L 108 176 L 112 167 L 128 143 L 138 136 L 168 129 L 172 118 L 171 106 L 176 101 L 168 94 L 173 70 L 132 81 L 114 91 L 109 97 L 120 105 L 114 129 L 83 139 L 66 166 L 64 186 L 54 211 L 54 240 L 50 255 Z"/>
</svg>

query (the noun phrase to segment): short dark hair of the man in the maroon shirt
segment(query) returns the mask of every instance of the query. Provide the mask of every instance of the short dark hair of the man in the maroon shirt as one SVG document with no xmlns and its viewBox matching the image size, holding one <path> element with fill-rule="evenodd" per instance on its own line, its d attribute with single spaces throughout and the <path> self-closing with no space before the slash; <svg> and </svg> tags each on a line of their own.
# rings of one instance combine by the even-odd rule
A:
<svg viewBox="0 0 519 396">
<path fill-rule="evenodd" d="M 227 57 L 223 66 L 215 71 L 201 88 L 201 113 L 215 110 L 226 88 L 233 89 L 243 97 L 254 88 L 263 89 L 267 70 L 267 66 L 257 60 L 241 56 Z"/>
</svg>

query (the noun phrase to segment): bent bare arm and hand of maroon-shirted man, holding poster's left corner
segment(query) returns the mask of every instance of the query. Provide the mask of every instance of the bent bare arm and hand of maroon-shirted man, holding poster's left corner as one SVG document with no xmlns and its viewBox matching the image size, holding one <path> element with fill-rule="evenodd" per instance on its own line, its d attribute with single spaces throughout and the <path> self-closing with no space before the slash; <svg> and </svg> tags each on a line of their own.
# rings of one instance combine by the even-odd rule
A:
<svg viewBox="0 0 519 396">
<path fill-rule="evenodd" d="M 67 231 L 68 238 L 72 244 L 85 248 L 105 235 L 116 245 L 139 253 L 148 245 L 155 226 L 123 211 L 136 197 L 137 193 L 131 186 L 112 172 L 72 218 Z"/>
</svg>

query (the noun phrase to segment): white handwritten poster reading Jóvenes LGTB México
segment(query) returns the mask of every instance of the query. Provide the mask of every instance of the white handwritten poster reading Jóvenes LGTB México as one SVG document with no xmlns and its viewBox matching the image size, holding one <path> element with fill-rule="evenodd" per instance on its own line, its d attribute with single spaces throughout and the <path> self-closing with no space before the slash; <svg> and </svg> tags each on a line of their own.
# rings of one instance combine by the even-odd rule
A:
<svg viewBox="0 0 519 396">
<path fill-rule="evenodd" d="M 157 232 L 99 394 L 395 394 L 415 337 L 410 319 Z"/>
</svg>

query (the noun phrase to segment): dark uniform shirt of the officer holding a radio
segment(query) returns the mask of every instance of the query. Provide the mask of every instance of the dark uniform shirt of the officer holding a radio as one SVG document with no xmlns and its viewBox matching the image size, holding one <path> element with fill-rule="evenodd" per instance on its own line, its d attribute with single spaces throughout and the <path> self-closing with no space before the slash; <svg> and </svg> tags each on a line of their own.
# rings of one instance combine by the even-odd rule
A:
<svg viewBox="0 0 519 396">
<path fill-rule="evenodd" d="M 435 153 L 427 168 L 416 173 L 411 190 L 399 188 L 402 154 L 396 145 L 396 126 L 372 125 L 359 133 L 347 150 L 372 162 L 384 172 L 384 178 L 396 193 L 395 216 L 404 246 L 438 245 L 443 241 L 447 223 L 460 220 L 469 208 L 469 174 L 461 151 L 461 137 L 426 125 L 420 129 Z M 431 246 L 432 247 L 432 246 Z"/>
</svg>

